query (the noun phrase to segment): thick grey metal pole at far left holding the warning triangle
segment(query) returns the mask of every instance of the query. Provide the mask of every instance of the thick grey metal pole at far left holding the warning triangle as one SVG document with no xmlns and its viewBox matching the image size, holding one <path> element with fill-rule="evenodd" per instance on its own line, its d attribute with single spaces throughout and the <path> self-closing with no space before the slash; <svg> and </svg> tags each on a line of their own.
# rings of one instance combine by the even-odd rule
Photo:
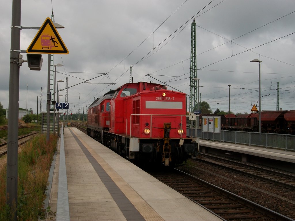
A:
<svg viewBox="0 0 295 221">
<path fill-rule="evenodd" d="M 19 111 L 19 64 L 21 0 L 12 0 L 12 22 L 9 70 L 9 118 L 7 131 L 7 178 L 6 204 L 12 217 L 17 220 L 17 180 L 18 180 L 18 111 Z"/>
</svg>

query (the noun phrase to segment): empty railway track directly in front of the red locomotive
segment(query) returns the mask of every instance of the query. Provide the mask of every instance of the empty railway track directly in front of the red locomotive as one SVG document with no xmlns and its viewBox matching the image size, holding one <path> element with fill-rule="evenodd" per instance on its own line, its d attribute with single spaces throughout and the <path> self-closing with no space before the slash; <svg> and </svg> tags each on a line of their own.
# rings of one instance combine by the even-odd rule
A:
<svg viewBox="0 0 295 221">
<path fill-rule="evenodd" d="M 176 169 L 160 173 L 152 172 L 150 174 L 217 214 L 223 220 L 294 221 L 255 202 Z"/>
</svg>

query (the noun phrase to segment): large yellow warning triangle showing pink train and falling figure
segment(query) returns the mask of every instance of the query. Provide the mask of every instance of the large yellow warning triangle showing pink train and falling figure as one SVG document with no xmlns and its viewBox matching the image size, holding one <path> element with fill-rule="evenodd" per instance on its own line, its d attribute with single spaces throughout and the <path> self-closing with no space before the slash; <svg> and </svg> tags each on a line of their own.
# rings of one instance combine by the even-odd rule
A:
<svg viewBox="0 0 295 221">
<path fill-rule="evenodd" d="M 47 18 L 28 47 L 27 53 L 68 54 L 69 51 L 53 22 Z"/>
</svg>

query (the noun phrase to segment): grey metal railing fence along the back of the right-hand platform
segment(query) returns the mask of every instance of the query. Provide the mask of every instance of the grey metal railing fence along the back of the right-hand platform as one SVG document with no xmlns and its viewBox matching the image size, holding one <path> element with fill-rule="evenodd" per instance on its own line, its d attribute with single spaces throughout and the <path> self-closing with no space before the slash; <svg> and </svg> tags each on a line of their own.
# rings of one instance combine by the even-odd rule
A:
<svg viewBox="0 0 295 221">
<path fill-rule="evenodd" d="M 221 131 L 221 133 L 211 133 L 202 132 L 202 129 L 196 128 L 186 128 L 186 130 L 188 136 L 204 140 L 295 151 L 295 135 L 241 131 Z"/>
</svg>

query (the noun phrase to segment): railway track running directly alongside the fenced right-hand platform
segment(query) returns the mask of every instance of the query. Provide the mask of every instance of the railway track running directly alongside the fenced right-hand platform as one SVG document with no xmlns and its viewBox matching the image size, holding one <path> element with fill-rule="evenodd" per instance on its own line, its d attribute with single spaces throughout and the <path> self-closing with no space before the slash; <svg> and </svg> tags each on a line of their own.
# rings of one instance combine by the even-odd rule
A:
<svg viewBox="0 0 295 221">
<path fill-rule="evenodd" d="M 295 176 L 271 169 L 265 169 L 237 161 L 223 159 L 217 156 L 199 153 L 197 160 L 207 162 L 237 173 L 257 178 L 259 180 L 269 182 L 274 185 L 284 187 L 286 189 L 295 190 Z"/>
</svg>

